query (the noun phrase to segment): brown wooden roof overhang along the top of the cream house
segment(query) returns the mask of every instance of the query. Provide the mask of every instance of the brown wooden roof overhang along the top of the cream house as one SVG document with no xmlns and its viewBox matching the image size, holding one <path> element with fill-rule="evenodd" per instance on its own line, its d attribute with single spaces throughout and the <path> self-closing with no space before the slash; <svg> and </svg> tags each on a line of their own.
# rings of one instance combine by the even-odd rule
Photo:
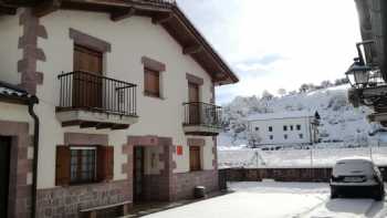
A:
<svg viewBox="0 0 387 218">
<path fill-rule="evenodd" d="M 31 7 L 36 17 L 55 10 L 83 10 L 106 12 L 112 21 L 144 15 L 160 24 L 212 79 L 216 85 L 239 82 L 224 60 L 207 42 L 174 0 L 0 0 L 1 11 L 14 14 L 18 7 Z"/>
</svg>

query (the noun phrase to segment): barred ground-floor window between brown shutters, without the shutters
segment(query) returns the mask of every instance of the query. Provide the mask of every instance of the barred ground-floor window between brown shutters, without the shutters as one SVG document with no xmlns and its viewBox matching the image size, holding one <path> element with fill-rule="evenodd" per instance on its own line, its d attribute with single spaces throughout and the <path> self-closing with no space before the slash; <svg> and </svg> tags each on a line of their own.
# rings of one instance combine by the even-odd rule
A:
<svg viewBox="0 0 387 218">
<path fill-rule="evenodd" d="M 95 148 L 71 148 L 70 183 L 83 184 L 96 180 Z"/>
</svg>

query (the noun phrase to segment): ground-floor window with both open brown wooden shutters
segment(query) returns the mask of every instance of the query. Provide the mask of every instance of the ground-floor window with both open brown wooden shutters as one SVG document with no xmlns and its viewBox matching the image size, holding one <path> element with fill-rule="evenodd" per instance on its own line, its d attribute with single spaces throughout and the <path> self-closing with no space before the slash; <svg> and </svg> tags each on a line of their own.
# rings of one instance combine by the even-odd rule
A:
<svg viewBox="0 0 387 218">
<path fill-rule="evenodd" d="M 113 146 L 56 147 L 57 186 L 112 180 L 113 167 Z"/>
</svg>

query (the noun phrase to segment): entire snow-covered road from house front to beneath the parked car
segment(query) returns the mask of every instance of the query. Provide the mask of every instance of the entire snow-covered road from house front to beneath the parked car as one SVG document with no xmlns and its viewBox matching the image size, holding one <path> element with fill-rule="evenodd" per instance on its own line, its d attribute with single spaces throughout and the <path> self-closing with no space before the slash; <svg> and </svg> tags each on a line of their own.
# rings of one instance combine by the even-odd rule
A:
<svg viewBox="0 0 387 218">
<path fill-rule="evenodd" d="M 327 184 L 232 183 L 234 193 L 146 218 L 384 218 L 387 203 L 330 199 Z"/>
</svg>

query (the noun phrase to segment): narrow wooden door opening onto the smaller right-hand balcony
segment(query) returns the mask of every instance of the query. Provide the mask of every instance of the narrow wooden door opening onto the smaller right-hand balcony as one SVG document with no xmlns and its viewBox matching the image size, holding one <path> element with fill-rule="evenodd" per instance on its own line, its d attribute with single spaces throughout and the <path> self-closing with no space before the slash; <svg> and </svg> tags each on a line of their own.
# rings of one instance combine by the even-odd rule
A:
<svg viewBox="0 0 387 218">
<path fill-rule="evenodd" d="M 189 94 L 189 123 L 200 124 L 199 85 L 188 83 Z"/>
</svg>

